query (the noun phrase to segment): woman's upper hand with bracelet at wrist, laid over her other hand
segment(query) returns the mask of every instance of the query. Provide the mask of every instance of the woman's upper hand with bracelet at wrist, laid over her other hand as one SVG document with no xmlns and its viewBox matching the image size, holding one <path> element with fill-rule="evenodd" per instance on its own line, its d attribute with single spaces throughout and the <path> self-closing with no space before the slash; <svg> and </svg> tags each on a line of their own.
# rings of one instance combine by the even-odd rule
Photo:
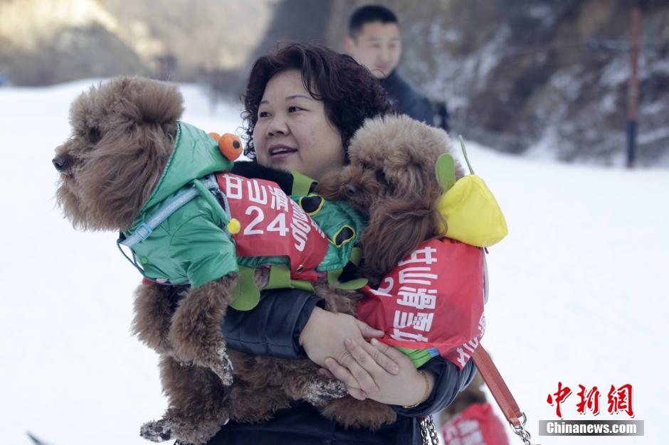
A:
<svg viewBox="0 0 669 445">
<path fill-rule="evenodd" d="M 347 338 L 344 344 L 349 355 L 340 360 L 328 357 L 327 370 L 320 372 L 344 382 L 352 397 L 407 406 L 421 402 L 432 391 L 433 373 L 421 371 L 427 377 L 426 382 L 411 359 L 399 350 L 376 338 L 372 338 L 372 344 L 364 342 L 362 345 Z M 379 366 L 378 363 L 388 360 L 399 365 L 399 372 L 391 374 Z"/>
</svg>

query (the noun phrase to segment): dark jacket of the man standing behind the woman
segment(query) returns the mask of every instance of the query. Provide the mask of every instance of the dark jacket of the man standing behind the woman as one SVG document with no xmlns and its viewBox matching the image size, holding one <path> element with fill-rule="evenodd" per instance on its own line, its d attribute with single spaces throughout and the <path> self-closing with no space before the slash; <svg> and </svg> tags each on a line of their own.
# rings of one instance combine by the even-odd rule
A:
<svg viewBox="0 0 669 445">
<path fill-rule="evenodd" d="M 430 100 L 423 95 L 421 90 L 418 90 L 416 85 L 401 77 L 397 70 L 382 79 L 381 86 L 388 93 L 399 114 L 406 114 L 428 125 L 434 123 L 434 112 Z"/>
</svg>

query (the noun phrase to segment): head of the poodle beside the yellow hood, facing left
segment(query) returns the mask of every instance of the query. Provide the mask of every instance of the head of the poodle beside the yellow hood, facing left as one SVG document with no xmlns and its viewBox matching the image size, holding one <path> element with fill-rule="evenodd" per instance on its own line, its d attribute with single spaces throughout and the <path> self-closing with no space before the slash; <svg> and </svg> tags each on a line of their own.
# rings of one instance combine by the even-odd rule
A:
<svg viewBox="0 0 669 445">
<path fill-rule="evenodd" d="M 350 163 L 325 178 L 319 193 L 347 200 L 369 218 L 361 236 L 367 274 L 381 277 L 443 224 L 436 173 L 451 152 L 448 134 L 406 116 L 367 120 L 349 145 Z M 456 175 L 462 176 L 458 166 Z"/>
</svg>

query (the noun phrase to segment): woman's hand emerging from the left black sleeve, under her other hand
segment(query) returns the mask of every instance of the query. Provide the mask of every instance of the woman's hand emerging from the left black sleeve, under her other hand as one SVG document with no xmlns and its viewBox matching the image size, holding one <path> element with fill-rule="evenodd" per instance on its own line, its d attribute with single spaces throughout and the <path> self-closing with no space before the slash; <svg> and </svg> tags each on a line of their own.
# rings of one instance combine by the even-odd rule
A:
<svg viewBox="0 0 669 445">
<path fill-rule="evenodd" d="M 300 345 L 305 348 L 312 362 L 324 366 L 327 357 L 344 361 L 344 358 L 350 355 L 344 347 L 345 338 L 352 339 L 354 343 L 367 344 L 365 338 L 383 335 L 383 331 L 372 328 L 354 316 L 328 312 L 316 307 L 300 334 Z M 399 372 L 397 364 L 386 355 L 380 357 L 377 365 L 387 372 Z"/>
</svg>

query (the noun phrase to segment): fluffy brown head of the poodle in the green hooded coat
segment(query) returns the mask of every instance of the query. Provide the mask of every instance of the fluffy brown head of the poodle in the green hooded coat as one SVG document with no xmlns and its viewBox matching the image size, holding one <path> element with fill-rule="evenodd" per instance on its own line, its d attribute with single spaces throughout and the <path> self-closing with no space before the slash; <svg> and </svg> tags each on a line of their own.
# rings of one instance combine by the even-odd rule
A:
<svg viewBox="0 0 669 445">
<path fill-rule="evenodd" d="M 141 77 L 110 80 L 73 102 L 72 134 L 52 162 L 58 204 L 75 227 L 132 224 L 172 154 L 182 102 L 176 87 Z"/>
</svg>

